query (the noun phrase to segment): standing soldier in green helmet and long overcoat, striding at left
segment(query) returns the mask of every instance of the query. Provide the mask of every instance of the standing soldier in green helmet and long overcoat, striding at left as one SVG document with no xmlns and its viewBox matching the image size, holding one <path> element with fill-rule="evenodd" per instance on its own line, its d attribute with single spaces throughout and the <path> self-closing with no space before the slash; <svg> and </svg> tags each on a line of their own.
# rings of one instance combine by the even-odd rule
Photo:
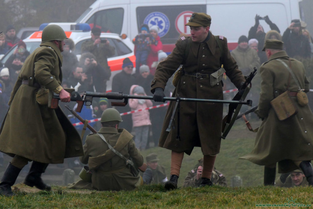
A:
<svg viewBox="0 0 313 209">
<path fill-rule="evenodd" d="M 24 183 L 50 190 L 41 179 L 48 164 L 84 154 L 80 135 L 60 107 L 48 107 L 54 92 L 62 102 L 70 102 L 70 94 L 60 86 L 64 39 L 58 25 L 45 27 L 40 47 L 25 60 L 15 83 L 0 129 L 0 151 L 13 157 L 0 183 L 2 195 L 14 195 L 11 186 L 28 161 L 33 164 Z"/>
</svg>

